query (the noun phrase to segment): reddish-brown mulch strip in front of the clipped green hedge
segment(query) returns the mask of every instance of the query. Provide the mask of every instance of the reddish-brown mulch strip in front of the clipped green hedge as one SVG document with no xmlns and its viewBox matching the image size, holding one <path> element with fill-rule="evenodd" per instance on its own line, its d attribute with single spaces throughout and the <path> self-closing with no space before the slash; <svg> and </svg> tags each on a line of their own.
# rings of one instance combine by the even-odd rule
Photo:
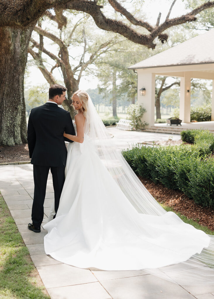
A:
<svg viewBox="0 0 214 299">
<path fill-rule="evenodd" d="M 173 208 L 174 211 L 181 213 L 188 219 L 191 218 L 200 225 L 214 230 L 214 210 L 212 208 L 203 208 L 197 205 L 193 199 L 189 199 L 181 191 L 168 189 L 163 184 L 155 184 L 149 179 L 142 177 L 139 177 L 139 179 L 158 202 Z"/>
</svg>

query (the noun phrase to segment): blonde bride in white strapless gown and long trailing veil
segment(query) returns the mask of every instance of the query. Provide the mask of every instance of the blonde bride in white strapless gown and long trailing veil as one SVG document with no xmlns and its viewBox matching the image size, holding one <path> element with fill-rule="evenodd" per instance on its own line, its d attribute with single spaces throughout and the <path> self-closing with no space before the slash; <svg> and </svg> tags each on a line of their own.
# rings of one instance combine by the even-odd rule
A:
<svg viewBox="0 0 214 299">
<path fill-rule="evenodd" d="M 80 268 L 146 269 L 176 283 L 213 283 L 214 237 L 156 202 L 85 91 L 74 93 L 72 105 L 76 136 L 64 136 L 75 142 L 56 217 L 44 225 L 45 253 Z"/>
</svg>

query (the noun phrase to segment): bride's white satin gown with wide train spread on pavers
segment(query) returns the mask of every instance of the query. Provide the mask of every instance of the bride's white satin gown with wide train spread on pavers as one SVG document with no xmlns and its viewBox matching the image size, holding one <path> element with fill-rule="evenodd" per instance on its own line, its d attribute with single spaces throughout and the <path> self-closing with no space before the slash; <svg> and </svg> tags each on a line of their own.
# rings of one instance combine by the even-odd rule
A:
<svg viewBox="0 0 214 299">
<path fill-rule="evenodd" d="M 44 229 L 48 230 L 46 254 L 72 266 L 102 270 L 180 263 L 210 242 L 207 234 L 172 212 L 163 216 L 138 213 L 93 151 L 87 135 L 82 144 L 68 144 L 59 209 Z"/>
</svg>

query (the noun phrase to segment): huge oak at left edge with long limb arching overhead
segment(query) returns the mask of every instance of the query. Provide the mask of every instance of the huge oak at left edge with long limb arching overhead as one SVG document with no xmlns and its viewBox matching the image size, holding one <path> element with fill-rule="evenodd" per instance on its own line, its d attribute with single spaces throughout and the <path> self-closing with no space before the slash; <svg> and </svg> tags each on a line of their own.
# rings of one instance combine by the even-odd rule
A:
<svg viewBox="0 0 214 299">
<path fill-rule="evenodd" d="M 156 38 L 162 43 L 167 41 L 168 34 L 165 32 L 168 28 L 195 21 L 196 15 L 214 7 L 214 1 L 207 1 L 182 16 L 170 18 L 175 2 L 172 2 L 164 22 L 160 24 L 159 13 L 153 26 L 142 14 L 139 19 L 136 18 L 131 10 L 128 11 L 122 2 L 116 0 L 0 0 L 0 86 L 4 90 L 0 95 L 0 144 L 21 144 L 27 140 L 24 73 L 31 32 L 42 16 L 49 14 L 53 8 L 57 11 L 81 11 L 91 15 L 99 28 L 119 33 L 134 43 L 154 49 Z M 105 8 L 117 12 L 115 19 L 105 16 Z M 63 19 L 61 21 L 64 22 Z M 42 35 L 41 31 L 39 33 Z M 42 51 L 42 42 L 39 47 Z"/>
</svg>

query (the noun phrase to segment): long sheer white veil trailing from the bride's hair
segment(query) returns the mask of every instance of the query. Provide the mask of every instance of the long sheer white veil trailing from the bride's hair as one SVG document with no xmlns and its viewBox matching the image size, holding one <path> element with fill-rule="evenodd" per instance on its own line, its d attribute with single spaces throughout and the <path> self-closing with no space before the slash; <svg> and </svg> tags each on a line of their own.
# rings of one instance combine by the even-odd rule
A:
<svg viewBox="0 0 214 299">
<path fill-rule="evenodd" d="M 84 132 L 90 137 L 99 158 L 138 213 L 155 216 L 162 216 L 167 213 L 143 186 L 117 149 L 90 97 L 88 97 Z M 176 214 L 168 213 L 171 213 L 170 219 L 173 224 L 181 222 Z M 214 236 L 208 236 L 210 237 L 209 246 L 204 247 L 200 253 L 192 255 L 189 260 L 159 269 L 144 270 L 157 277 L 182 285 L 214 285 Z M 142 258 L 146 259 L 143 256 Z"/>
</svg>

